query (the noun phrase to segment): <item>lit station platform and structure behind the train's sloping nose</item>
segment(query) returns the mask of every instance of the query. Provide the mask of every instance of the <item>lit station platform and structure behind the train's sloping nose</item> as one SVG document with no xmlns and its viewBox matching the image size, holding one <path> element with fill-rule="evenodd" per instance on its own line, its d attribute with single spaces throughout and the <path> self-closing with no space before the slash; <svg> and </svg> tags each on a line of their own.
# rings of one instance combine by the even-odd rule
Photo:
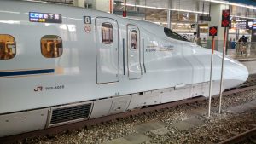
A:
<svg viewBox="0 0 256 144">
<path fill-rule="evenodd" d="M 253 57 L 256 47 L 255 30 L 248 30 L 247 20 L 255 20 L 255 0 L 41 0 L 44 2 L 63 3 L 86 9 L 97 9 L 108 13 L 122 15 L 125 8 L 127 17 L 148 20 L 171 28 L 189 41 L 211 49 L 212 37 L 208 36 L 208 27 L 221 27 L 222 10 L 230 9 L 230 29 L 226 54 L 234 57 Z M 126 6 L 126 7 L 125 7 Z M 196 35 L 195 35 L 196 32 Z M 246 55 L 240 55 L 240 48 L 236 43 L 241 36 L 248 37 Z M 222 51 L 224 43 L 224 29 L 219 29 L 215 37 L 215 49 Z M 234 45 L 234 44 L 233 44 Z M 243 46 L 244 47 L 244 46 Z M 233 48 L 233 49 L 232 49 Z M 235 48 L 235 49 L 234 49 Z M 256 57 L 256 56 L 255 56 Z"/>
</svg>

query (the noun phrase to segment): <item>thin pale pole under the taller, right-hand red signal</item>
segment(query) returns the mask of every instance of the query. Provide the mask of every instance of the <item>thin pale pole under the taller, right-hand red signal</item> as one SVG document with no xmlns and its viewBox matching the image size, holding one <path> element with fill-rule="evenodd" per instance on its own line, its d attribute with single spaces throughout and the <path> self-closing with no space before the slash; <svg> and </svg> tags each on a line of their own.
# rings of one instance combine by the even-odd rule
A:
<svg viewBox="0 0 256 144">
<path fill-rule="evenodd" d="M 219 88 L 219 109 L 218 113 L 221 113 L 221 105 L 222 105 L 222 90 L 223 90 L 223 72 L 224 72 L 224 52 L 226 49 L 226 27 L 224 29 L 224 48 L 223 48 L 223 54 L 222 54 L 222 65 L 221 65 L 221 78 L 220 78 L 220 88 Z"/>
</svg>

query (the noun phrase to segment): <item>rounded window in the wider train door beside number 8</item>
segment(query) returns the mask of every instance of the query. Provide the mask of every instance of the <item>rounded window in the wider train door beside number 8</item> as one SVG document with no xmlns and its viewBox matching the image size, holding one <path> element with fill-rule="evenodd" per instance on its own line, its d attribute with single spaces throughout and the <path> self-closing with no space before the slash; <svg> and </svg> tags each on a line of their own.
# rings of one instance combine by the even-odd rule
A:
<svg viewBox="0 0 256 144">
<path fill-rule="evenodd" d="M 107 22 L 102 24 L 102 43 L 113 43 L 113 26 Z"/>
</svg>

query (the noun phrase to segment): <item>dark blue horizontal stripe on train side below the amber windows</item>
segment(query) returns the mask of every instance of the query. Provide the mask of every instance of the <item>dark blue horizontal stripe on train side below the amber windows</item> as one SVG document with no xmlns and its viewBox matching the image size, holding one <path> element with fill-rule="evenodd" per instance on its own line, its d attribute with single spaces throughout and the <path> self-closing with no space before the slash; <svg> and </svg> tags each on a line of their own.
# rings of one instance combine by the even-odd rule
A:
<svg viewBox="0 0 256 144">
<path fill-rule="evenodd" d="M 32 74 L 47 74 L 47 73 L 54 73 L 54 72 L 55 72 L 55 69 L 0 72 L 0 78 L 1 77 L 10 77 L 10 76 L 25 76 L 25 75 L 32 75 Z"/>
</svg>

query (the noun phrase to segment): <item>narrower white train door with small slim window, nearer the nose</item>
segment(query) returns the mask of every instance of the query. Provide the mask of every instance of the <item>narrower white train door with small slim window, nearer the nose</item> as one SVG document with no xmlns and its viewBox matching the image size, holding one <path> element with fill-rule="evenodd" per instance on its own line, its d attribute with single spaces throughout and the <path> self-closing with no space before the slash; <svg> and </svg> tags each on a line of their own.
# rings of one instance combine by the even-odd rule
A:
<svg viewBox="0 0 256 144">
<path fill-rule="evenodd" d="M 140 61 L 140 32 L 137 26 L 128 25 L 128 76 L 129 79 L 142 77 L 142 66 Z"/>
</svg>

